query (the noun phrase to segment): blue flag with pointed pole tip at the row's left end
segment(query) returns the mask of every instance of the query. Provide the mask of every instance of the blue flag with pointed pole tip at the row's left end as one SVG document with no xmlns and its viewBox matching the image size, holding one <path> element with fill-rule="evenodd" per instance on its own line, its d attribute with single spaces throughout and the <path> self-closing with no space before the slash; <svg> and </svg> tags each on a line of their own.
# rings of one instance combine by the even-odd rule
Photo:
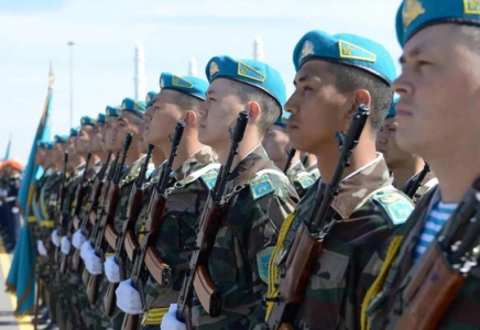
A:
<svg viewBox="0 0 480 330">
<path fill-rule="evenodd" d="M 30 152 L 29 163 L 25 167 L 22 185 L 20 186 L 18 202 L 20 213 L 23 217 L 23 227 L 20 231 L 20 238 L 17 241 L 13 253 L 12 266 L 7 277 L 7 290 L 17 296 L 15 315 L 22 316 L 33 311 L 35 299 L 35 258 L 36 242 L 32 242 L 32 233 L 29 222 L 36 221 L 31 211 L 33 193 L 35 191 L 36 177 L 43 172 L 43 168 L 35 165 L 36 146 L 39 142 L 50 140 L 50 112 L 52 108 L 53 94 L 53 68 L 50 66 L 48 73 L 48 92 L 33 139 L 32 150 Z M 32 213 L 32 215 L 30 215 Z"/>
</svg>

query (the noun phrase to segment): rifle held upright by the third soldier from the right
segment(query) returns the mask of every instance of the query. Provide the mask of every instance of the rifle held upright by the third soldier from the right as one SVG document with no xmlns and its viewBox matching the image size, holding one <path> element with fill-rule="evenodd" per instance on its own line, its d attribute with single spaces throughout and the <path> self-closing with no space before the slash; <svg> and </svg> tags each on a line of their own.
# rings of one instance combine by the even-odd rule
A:
<svg viewBox="0 0 480 330">
<path fill-rule="evenodd" d="M 243 110 L 237 119 L 233 130 L 230 130 L 231 147 L 227 163 L 220 167 L 214 191 L 200 216 L 200 231 L 197 234 L 196 246 L 188 263 L 188 270 L 178 296 L 176 318 L 193 329 L 190 321 L 192 299 L 197 293 L 201 306 L 211 317 L 218 317 L 221 311 L 221 296 L 211 282 L 208 273 L 208 257 L 214 249 L 215 238 L 220 228 L 221 212 L 228 204 L 225 196 L 226 185 L 231 175 L 233 158 L 238 154 L 240 142 L 247 129 L 249 112 Z"/>
</svg>

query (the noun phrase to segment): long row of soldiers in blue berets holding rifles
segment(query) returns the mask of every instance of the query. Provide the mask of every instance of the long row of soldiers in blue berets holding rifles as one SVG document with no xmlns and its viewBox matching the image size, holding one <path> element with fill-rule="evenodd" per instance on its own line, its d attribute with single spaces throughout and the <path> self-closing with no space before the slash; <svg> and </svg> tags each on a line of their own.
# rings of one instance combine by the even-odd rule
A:
<svg viewBox="0 0 480 330">
<path fill-rule="evenodd" d="M 52 320 L 480 329 L 480 7 L 405 0 L 396 19 L 400 77 L 379 43 L 310 31 L 288 99 L 270 65 L 215 56 L 208 81 L 163 73 L 145 103 L 41 143 Z"/>
</svg>

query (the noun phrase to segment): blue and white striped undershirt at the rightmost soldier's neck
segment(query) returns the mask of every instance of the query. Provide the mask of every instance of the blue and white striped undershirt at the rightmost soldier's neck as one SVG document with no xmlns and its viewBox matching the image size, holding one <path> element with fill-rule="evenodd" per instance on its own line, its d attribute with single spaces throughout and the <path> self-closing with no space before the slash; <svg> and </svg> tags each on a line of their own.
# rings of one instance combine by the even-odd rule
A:
<svg viewBox="0 0 480 330">
<path fill-rule="evenodd" d="M 427 250 L 432 241 L 438 235 L 444 224 L 448 221 L 451 213 L 454 213 L 458 204 L 445 204 L 439 201 L 434 206 L 428 213 L 427 221 L 425 222 L 422 235 L 416 244 L 413 253 L 413 261 L 416 262 L 422 254 Z"/>
</svg>

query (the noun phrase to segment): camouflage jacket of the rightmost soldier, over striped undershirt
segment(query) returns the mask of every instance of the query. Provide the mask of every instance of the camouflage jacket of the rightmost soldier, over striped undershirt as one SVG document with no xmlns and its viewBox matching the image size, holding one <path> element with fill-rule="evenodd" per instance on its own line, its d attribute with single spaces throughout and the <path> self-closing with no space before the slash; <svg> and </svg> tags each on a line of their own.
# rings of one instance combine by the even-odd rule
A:
<svg viewBox="0 0 480 330">
<path fill-rule="evenodd" d="M 413 254 L 417 241 L 425 226 L 430 209 L 440 200 L 438 187 L 428 191 L 416 205 L 415 211 L 408 218 L 404 229 L 401 231 L 403 241 L 399 253 L 391 267 L 388 277 L 391 279 L 389 287 L 383 287 L 381 299 L 374 308 L 372 305 L 370 329 L 392 329 L 399 317 L 399 311 L 405 310 L 404 301 L 401 298 L 401 290 L 410 280 L 410 274 L 415 265 Z M 444 226 L 437 237 L 445 235 L 452 228 L 452 218 Z M 422 263 L 422 257 L 417 263 Z M 478 260 L 480 262 L 480 260 Z M 459 293 L 455 297 L 447 312 L 444 315 L 437 329 L 463 330 L 480 329 L 480 267 L 477 265 L 467 276 Z"/>
</svg>

